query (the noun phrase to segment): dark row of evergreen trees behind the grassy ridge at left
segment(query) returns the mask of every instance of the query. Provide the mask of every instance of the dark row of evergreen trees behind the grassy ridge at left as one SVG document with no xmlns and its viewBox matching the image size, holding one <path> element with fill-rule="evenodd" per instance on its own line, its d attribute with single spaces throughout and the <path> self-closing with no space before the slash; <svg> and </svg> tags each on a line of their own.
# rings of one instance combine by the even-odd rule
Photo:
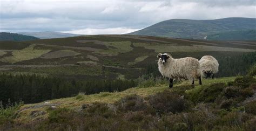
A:
<svg viewBox="0 0 256 131">
<path fill-rule="evenodd" d="M 137 86 L 133 80 L 65 80 L 38 75 L 0 75 L 0 101 L 3 105 L 24 101 L 25 104 L 75 96 L 79 92 L 124 91 Z"/>
</svg>

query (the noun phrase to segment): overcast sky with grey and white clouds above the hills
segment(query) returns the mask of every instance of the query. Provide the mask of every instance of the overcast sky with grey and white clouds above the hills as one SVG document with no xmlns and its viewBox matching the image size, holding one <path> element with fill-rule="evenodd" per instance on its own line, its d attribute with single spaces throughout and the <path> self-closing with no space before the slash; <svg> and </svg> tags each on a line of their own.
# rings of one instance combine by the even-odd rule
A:
<svg viewBox="0 0 256 131">
<path fill-rule="evenodd" d="M 167 19 L 256 18 L 255 0 L 0 0 L 0 32 L 123 34 Z"/>
</svg>

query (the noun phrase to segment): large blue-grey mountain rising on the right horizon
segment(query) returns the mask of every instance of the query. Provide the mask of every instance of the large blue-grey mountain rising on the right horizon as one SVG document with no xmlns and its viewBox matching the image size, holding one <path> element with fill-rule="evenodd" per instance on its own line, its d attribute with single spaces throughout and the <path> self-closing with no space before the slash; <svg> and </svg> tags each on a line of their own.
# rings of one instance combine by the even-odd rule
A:
<svg viewBox="0 0 256 131">
<path fill-rule="evenodd" d="M 256 30 L 255 18 L 223 18 L 214 20 L 170 19 L 129 35 L 203 39 L 220 32 Z"/>
</svg>

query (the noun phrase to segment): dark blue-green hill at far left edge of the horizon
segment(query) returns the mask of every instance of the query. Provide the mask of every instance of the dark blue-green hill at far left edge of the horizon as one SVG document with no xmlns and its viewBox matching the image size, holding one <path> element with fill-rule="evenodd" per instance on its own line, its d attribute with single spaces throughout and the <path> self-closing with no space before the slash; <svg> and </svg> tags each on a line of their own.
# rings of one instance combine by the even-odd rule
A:
<svg viewBox="0 0 256 131">
<path fill-rule="evenodd" d="M 35 40 L 39 39 L 33 36 L 19 35 L 17 33 L 0 32 L 0 41 L 10 40 L 10 41 L 25 41 L 25 40 Z"/>
</svg>

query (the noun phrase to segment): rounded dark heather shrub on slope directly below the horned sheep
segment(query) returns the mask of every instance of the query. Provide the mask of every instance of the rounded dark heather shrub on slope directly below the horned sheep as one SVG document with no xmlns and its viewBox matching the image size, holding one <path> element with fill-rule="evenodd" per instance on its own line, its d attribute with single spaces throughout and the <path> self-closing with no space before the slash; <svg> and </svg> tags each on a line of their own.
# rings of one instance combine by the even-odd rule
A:
<svg viewBox="0 0 256 131">
<path fill-rule="evenodd" d="M 168 90 L 149 96 L 149 103 L 157 111 L 165 113 L 179 113 L 191 107 L 186 99 Z"/>
</svg>

